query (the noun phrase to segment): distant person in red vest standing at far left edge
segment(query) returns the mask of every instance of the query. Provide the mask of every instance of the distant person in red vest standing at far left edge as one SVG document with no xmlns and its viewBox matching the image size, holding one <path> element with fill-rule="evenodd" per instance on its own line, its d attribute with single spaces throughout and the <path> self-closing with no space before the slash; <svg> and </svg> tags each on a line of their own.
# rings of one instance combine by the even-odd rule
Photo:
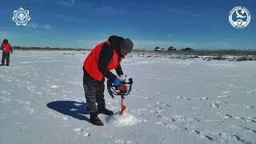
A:
<svg viewBox="0 0 256 144">
<path fill-rule="evenodd" d="M 13 50 L 11 49 L 11 46 L 7 39 L 3 40 L 1 45 L 1 50 L 2 50 L 2 66 L 5 64 L 5 61 L 6 61 L 6 66 L 9 66 L 10 52 L 13 53 Z"/>
</svg>

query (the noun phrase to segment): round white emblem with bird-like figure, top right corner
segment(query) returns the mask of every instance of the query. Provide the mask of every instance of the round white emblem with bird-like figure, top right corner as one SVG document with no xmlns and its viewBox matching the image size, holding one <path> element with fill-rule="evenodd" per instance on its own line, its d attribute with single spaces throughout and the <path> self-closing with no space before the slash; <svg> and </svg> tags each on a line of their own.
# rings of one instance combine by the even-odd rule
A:
<svg viewBox="0 0 256 144">
<path fill-rule="evenodd" d="M 229 14 L 230 24 L 238 29 L 245 28 L 250 23 L 250 12 L 246 7 L 236 6 Z"/>
</svg>

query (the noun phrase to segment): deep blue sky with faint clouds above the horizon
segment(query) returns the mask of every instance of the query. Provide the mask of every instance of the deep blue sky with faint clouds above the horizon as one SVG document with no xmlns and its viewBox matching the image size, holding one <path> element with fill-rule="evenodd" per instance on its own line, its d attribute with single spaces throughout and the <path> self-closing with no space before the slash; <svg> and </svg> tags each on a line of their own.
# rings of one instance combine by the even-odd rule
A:
<svg viewBox="0 0 256 144">
<path fill-rule="evenodd" d="M 116 34 L 135 49 L 190 46 L 194 49 L 256 50 L 256 1 L 2 0 L 0 39 L 12 46 L 93 48 Z M 245 29 L 230 25 L 234 6 L 251 14 Z M 16 26 L 13 11 L 30 10 L 26 26 Z"/>
</svg>

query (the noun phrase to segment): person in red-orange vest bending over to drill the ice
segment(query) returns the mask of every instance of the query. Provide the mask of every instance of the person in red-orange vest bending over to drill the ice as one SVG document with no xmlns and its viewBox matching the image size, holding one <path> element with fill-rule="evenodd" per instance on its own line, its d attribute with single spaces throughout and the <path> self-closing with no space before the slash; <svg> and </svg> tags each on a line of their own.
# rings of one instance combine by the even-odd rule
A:
<svg viewBox="0 0 256 144">
<path fill-rule="evenodd" d="M 134 43 L 129 38 L 115 35 L 107 41 L 95 46 L 83 64 L 83 87 L 86 96 L 86 108 L 90 113 L 90 122 L 97 126 L 104 123 L 98 114 L 113 115 L 114 112 L 106 109 L 104 99 L 104 81 L 108 78 L 114 86 L 121 86 L 121 80 L 110 72 L 115 70 L 118 75 L 123 75 L 120 63 L 133 50 Z M 96 106 L 96 103 L 98 104 Z"/>
</svg>

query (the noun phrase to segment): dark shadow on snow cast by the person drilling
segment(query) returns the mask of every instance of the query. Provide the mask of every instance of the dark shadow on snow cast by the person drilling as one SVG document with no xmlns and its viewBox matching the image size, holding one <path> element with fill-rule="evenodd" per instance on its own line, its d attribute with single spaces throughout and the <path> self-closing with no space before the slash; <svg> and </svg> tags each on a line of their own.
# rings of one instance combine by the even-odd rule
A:
<svg viewBox="0 0 256 144">
<path fill-rule="evenodd" d="M 74 101 L 54 101 L 46 105 L 52 110 L 56 110 L 59 113 L 69 115 L 73 118 L 78 118 L 79 120 L 86 120 L 89 122 L 84 114 L 89 114 L 86 111 L 85 102 L 74 102 Z"/>
</svg>

